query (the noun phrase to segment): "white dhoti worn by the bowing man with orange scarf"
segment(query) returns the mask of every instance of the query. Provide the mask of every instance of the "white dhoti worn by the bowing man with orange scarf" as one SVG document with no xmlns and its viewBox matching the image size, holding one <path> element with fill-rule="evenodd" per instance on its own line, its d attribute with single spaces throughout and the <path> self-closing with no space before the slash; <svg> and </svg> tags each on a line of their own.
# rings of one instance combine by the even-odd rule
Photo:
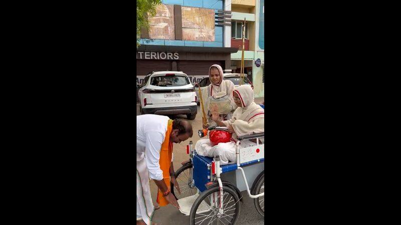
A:
<svg viewBox="0 0 401 225">
<path fill-rule="evenodd" d="M 151 224 L 154 213 L 145 159 L 136 161 L 136 220 Z"/>
</svg>

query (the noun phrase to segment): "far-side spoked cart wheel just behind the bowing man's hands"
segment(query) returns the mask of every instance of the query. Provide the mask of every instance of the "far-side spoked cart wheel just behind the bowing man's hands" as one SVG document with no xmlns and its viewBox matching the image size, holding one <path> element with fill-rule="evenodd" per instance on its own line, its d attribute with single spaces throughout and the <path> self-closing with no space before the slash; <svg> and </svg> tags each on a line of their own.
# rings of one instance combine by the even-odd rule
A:
<svg viewBox="0 0 401 225">
<path fill-rule="evenodd" d="M 185 164 L 181 166 L 177 171 L 175 171 L 175 179 L 178 182 L 181 194 L 175 189 L 174 185 L 170 182 L 170 191 L 175 196 L 175 199 L 180 199 L 193 195 L 197 192 L 196 187 L 190 187 L 192 180 L 189 180 L 189 172 L 192 170 L 192 163 Z M 175 191 L 175 192 L 174 192 Z"/>
</svg>

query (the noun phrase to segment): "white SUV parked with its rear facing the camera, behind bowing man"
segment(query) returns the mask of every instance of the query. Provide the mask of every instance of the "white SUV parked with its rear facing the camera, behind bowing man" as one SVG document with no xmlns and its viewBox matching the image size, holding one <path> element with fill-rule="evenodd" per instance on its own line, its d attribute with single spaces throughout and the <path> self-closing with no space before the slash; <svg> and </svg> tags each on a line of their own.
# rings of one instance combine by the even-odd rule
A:
<svg viewBox="0 0 401 225">
<path fill-rule="evenodd" d="M 141 114 L 186 114 L 188 119 L 196 116 L 195 87 L 181 71 L 149 73 L 138 94 Z"/>
</svg>

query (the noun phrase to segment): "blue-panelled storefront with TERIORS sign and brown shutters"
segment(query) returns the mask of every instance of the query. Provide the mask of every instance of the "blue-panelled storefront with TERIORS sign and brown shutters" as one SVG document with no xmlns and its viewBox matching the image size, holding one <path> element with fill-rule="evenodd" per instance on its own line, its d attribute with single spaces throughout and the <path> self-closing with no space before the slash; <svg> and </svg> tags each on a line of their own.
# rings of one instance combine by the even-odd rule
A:
<svg viewBox="0 0 401 225">
<path fill-rule="evenodd" d="M 162 0 L 149 18 L 136 52 L 137 84 L 151 71 L 176 70 L 192 83 L 209 75 L 212 64 L 231 71 L 231 0 Z"/>
</svg>

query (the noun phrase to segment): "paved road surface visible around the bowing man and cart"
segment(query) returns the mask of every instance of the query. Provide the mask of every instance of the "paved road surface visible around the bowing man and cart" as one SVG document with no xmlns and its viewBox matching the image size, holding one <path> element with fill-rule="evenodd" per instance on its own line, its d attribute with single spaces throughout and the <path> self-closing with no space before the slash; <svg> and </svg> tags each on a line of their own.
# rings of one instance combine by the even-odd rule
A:
<svg viewBox="0 0 401 225">
<path fill-rule="evenodd" d="M 261 103 L 263 100 L 264 98 L 255 98 L 256 103 Z M 200 139 L 200 137 L 197 135 L 197 130 L 202 128 L 202 113 L 200 113 L 200 110 L 202 109 L 200 109 L 198 106 L 196 118 L 193 120 L 188 120 L 192 124 L 193 128 L 192 137 L 179 144 L 174 144 L 174 170 L 177 170 L 179 167 L 181 167 L 181 162 L 189 158 L 189 156 L 186 154 L 186 144 L 189 143 L 189 140 L 192 140 L 193 145 L 195 145 L 196 141 Z M 140 115 L 139 103 L 136 104 L 136 114 Z M 172 115 L 169 117 L 171 119 L 186 118 L 185 115 Z M 152 199 L 155 202 L 157 196 L 157 186 L 153 181 L 150 181 L 150 192 Z M 241 204 L 241 212 L 237 224 L 264 224 L 264 217 L 258 214 L 256 211 L 253 199 L 248 196 L 247 191 L 242 191 L 241 193 L 244 198 L 244 203 Z M 189 224 L 189 216 L 181 214 L 174 206 L 169 204 L 167 206 L 160 207 L 160 209 L 155 211 L 153 221 L 161 225 L 184 225 Z"/>
</svg>

